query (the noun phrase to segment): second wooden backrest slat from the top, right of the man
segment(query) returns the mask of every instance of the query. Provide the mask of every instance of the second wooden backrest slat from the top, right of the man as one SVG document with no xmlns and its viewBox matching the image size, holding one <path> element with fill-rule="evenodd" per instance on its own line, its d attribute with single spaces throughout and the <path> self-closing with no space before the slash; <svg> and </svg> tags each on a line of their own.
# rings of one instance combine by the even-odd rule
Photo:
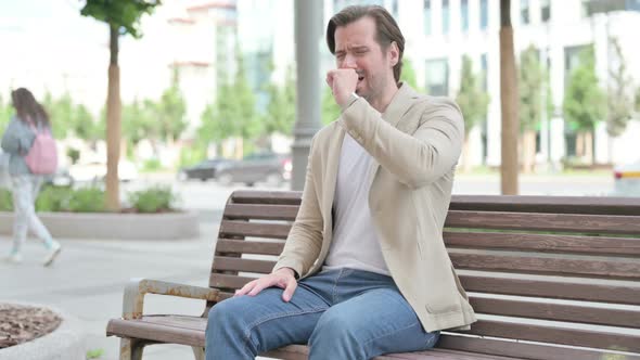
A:
<svg viewBox="0 0 640 360">
<path fill-rule="evenodd" d="M 640 234 L 632 216 L 449 210 L 445 227 Z"/>
</svg>

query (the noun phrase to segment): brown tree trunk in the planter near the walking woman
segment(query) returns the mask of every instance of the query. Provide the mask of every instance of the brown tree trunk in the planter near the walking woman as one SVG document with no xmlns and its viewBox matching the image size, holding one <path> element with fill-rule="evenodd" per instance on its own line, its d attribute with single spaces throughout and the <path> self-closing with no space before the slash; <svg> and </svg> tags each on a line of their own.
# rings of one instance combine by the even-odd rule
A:
<svg viewBox="0 0 640 360">
<path fill-rule="evenodd" d="M 106 94 L 106 208 L 120 209 L 118 162 L 120 158 L 120 69 L 118 28 L 110 27 L 108 91 Z"/>
</svg>

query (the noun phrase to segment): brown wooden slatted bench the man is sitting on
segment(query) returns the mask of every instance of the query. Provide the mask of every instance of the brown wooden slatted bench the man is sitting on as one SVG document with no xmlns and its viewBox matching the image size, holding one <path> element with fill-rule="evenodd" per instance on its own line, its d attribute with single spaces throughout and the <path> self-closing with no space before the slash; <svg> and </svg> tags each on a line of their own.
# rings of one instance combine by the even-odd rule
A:
<svg viewBox="0 0 640 360">
<path fill-rule="evenodd" d="M 149 344 L 204 356 L 206 316 L 269 273 L 299 192 L 236 191 L 225 208 L 209 287 L 142 280 L 125 292 L 120 359 Z M 640 359 L 640 198 L 453 196 L 445 242 L 479 321 L 435 349 L 377 359 Z M 145 316 L 144 294 L 206 300 L 202 317 Z M 306 359 L 292 345 L 265 356 Z"/>
</svg>

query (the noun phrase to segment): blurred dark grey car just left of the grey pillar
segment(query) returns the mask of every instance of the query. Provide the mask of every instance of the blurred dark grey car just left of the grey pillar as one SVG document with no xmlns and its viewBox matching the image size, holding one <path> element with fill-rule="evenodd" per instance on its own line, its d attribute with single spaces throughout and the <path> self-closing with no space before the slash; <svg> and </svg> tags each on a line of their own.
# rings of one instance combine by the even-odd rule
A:
<svg viewBox="0 0 640 360">
<path fill-rule="evenodd" d="M 277 187 L 291 180 L 292 163 L 290 155 L 276 153 L 254 153 L 242 160 L 230 160 L 218 165 L 216 179 L 222 185 L 244 182 L 253 187 L 256 182 L 265 182 Z"/>
</svg>

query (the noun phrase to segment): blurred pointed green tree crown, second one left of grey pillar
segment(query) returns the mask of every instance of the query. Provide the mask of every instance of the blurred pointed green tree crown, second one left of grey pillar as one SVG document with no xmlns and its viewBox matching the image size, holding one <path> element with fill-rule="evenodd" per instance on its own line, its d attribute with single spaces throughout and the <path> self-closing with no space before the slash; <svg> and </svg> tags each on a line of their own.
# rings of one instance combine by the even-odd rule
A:
<svg viewBox="0 0 640 360">
<path fill-rule="evenodd" d="M 231 137 L 253 140 L 263 131 L 256 99 L 246 79 L 242 55 L 238 56 L 233 83 L 218 88 L 216 101 L 205 107 L 199 140 L 204 144 Z"/>
</svg>

